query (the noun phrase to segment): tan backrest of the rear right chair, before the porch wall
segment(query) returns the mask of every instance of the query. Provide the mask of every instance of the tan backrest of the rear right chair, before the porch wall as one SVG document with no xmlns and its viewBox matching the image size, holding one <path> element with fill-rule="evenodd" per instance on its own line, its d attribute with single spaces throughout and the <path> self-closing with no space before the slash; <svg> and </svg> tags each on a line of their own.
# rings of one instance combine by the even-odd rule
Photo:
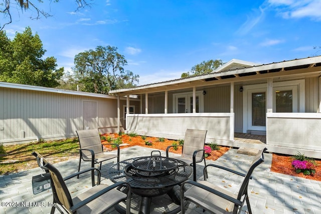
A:
<svg viewBox="0 0 321 214">
<path fill-rule="evenodd" d="M 191 158 L 195 150 L 204 149 L 207 130 L 186 129 L 182 157 Z M 203 160 L 204 152 L 198 152 L 197 160 Z"/>
</svg>

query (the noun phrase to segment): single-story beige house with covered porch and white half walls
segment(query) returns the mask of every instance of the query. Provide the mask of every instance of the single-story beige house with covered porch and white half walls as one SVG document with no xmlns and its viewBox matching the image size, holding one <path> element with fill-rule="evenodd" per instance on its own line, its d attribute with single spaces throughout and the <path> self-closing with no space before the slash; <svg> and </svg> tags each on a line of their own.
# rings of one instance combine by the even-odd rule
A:
<svg viewBox="0 0 321 214">
<path fill-rule="evenodd" d="M 127 97 L 125 121 L 118 116 L 126 132 L 180 139 L 186 128 L 206 129 L 207 142 L 233 147 L 261 147 L 234 140 L 236 132 L 259 134 L 270 152 L 321 158 L 320 75 L 321 56 L 263 65 L 233 59 L 209 74 L 109 94 Z"/>
</svg>

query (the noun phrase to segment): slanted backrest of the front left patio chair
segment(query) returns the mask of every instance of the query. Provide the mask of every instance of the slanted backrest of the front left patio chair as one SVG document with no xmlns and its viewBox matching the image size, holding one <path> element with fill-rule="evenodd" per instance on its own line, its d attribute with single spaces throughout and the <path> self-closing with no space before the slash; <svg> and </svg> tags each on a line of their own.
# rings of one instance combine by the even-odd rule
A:
<svg viewBox="0 0 321 214">
<path fill-rule="evenodd" d="M 55 198 L 55 202 L 58 202 L 65 208 L 69 209 L 73 205 L 73 202 L 64 178 L 62 177 L 58 169 L 50 164 L 38 152 L 33 152 L 33 155 L 37 157 L 37 161 L 38 164 L 40 163 L 40 167 L 45 169 L 46 171 L 49 171 L 50 173 L 51 188 L 53 196 Z"/>
</svg>

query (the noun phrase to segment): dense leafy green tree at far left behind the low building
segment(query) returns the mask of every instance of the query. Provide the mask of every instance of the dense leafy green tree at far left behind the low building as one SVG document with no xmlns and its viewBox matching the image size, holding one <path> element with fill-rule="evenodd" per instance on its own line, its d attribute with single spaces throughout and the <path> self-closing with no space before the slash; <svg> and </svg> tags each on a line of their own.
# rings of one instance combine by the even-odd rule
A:
<svg viewBox="0 0 321 214">
<path fill-rule="evenodd" d="M 13 41 L 6 32 L 0 32 L 0 81 L 56 87 L 64 68 L 56 69 L 56 59 L 43 59 L 46 50 L 38 34 L 33 35 L 28 27 L 23 33 L 16 33 Z"/>
</svg>

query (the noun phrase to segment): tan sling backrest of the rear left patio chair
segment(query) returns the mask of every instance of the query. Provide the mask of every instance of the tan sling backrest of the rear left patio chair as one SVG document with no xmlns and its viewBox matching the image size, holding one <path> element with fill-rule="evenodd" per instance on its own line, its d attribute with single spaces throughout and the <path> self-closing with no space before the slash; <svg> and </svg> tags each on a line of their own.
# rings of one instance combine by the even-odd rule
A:
<svg viewBox="0 0 321 214">
<path fill-rule="evenodd" d="M 99 132 L 97 129 L 77 130 L 81 149 L 91 149 L 95 154 L 103 153 Z M 91 158 L 90 151 L 82 151 L 82 155 Z"/>
</svg>

